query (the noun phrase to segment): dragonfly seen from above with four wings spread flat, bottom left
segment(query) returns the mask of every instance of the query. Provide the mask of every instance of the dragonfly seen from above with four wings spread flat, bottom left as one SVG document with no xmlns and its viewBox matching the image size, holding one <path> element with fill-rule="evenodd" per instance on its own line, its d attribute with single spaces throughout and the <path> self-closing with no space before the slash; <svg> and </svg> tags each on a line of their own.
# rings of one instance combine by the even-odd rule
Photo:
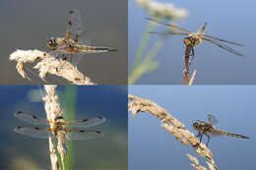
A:
<svg viewBox="0 0 256 170">
<path fill-rule="evenodd" d="M 63 117 L 55 118 L 54 122 L 47 121 L 44 118 L 39 118 L 31 114 L 21 111 L 15 113 L 18 119 L 30 123 L 38 127 L 16 127 L 15 132 L 30 136 L 33 138 L 47 139 L 48 137 L 56 137 L 58 140 L 66 141 L 84 141 L 101 137 L 102 133 L 96 130 L 85 130 L 105 122 L 105 118 L 98 116 L 96 118 L 64 122 Z M 67 128 L 70 127 L 70 128 Z M 72 128 L 72 129 L 71 129 Z M 82 129 L 78 129 L 82 128 Z"/>
</svg>

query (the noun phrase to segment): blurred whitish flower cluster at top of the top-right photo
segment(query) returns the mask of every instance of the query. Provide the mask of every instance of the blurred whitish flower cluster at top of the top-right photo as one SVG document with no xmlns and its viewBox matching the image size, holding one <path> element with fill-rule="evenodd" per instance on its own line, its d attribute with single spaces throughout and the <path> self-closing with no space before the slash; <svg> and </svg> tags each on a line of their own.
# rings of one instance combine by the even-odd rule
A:
<svg viewBox="0 0 256 170">
<path fill-rule="evenodd" d="M 160 3 L 155 0 L 135 0 L 145 8 L 153 17 L 160 19 L 180 20 L 188 16 L 185 9 L 175 8 L 171 3 Z"/>
</svg>

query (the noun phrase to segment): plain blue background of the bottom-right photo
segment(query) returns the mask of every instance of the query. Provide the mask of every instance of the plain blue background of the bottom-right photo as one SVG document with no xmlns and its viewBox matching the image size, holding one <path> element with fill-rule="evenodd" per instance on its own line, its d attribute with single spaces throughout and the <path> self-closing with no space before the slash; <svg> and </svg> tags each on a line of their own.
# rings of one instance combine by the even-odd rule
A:
<svg viewBox="0 0 256 170">
<path fill-rule="evenodd" d="M 194 134 L 193 122 L 207 121 L 207 114 L 213 114 L 219 120 L 216 127 L 250 137 L 211 138 L 209 147 L 218 167 L 255 169 L 255 85 L 132 85 L 128 91 L 156 102 Z M 185 153 L 197 154 L 162 129 L 158 118 L 148 113 L 132 118 L 129 112 L 128 120 L 130 170 L 193 169 Z M 199 160 L 205 165 L 205 159 Z"/>
</svg>

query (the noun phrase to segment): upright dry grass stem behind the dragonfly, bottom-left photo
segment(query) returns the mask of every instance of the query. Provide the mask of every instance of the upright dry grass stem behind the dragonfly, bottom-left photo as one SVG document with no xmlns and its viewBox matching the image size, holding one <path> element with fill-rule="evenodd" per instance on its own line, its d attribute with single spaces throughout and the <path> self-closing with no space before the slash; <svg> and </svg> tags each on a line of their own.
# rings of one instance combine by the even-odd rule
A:
<svg viewBox="0 0 256 170">
<path fill-rule="evenodd" d="M 63 111 L 60 108 L 60 104 L 58 103 L 58 96 L 55 93 L 55 87 L 57 85 L 44 85 L 46 95 L 42 98 L 45 102 L 44 109 L 46 112 L 47 120 L 53 122 L 56 117 L 63 116 Z M 58 137 L 57 137 L 58 138 Z M 49 150 L 50 150 L 50 159 L 53 170 L 59 170 L 58 157 L 56 155 L 56 150 L 54 148 L 53 140 L 49 137 Z M 58 152 L 60 153 L 62 159 L 62 165 L 64 169 L 64 158 L 67 154 L 67 148 L 65 146 L 66 143 L 62 143 L 58 139 Z"/>
</svg>

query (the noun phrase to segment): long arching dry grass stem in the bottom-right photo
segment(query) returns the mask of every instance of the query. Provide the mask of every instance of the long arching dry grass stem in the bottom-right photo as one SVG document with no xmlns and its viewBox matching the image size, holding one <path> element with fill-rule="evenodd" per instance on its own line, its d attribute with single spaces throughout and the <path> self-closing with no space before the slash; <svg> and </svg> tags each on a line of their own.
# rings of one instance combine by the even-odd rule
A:
<svg viewBox="0 0 256 170">
<path fill-rule="evenodd" d="M 202 157 L 205 157 L 208 162 L 215 167 L 215 161 L 212 151 L 203 142 L 199 143 L 199 140 L 195 135 L 188 130 L 185 130 L 184 124 L 173 118 L 165 109 L 161 108 L 157 103 L 150 100 L 140 98 L 129 94 L 128 100 L 131 100 L 128 104 L 128 110 L 132 111 L 132 115 L 135 117 L 139 112 L 148 112 L 158 117 L 161 120 L 161 127 L 167 132 L 172 134 L 179 142 L 186 145 L 191 145 L 196 153 Z"/>
</svg>

